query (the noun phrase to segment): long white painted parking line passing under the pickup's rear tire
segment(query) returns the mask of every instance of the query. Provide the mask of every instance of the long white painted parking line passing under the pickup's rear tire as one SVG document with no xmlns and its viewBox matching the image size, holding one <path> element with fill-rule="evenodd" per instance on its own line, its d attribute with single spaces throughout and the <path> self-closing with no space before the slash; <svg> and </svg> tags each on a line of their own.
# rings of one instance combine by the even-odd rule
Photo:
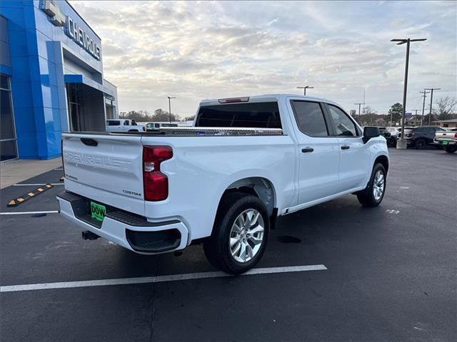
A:
<svg viewBox="0 0 457 342">
<path fill-rule="evenodd" d="M 247 271 L 246 273 L 240 274 L 240 276 L 253 276 L 255 274 L 274 274 L 274 273 L 303 272 L 303 271 L 323 271 L 326 269 L 327 268 L 324 265 L 268 267 L 265 269 L 251 269 L 250 271 Z M 204 272 L 204 273 L 171 274 L 169 276 L 141 276 L 139 278 L 64 281 L 64 282 L 59 282 L 59 283 L 10 285 L 10 286 L 0 286 L 0 292 L 34 291 L 34 290 L 49 290 L 49 289 L 72 289 L 72 288 L 76 288 L 76 287 L 127 285 L 127 284 L 163 283 L 164 281 L 181 281 L 181 280 L 191 280 L 191 279 L 221 278 L 224 276 L 231 276 L 231 274 L 226 274 L 221 271 L 216 271 L 216 272 Z"/>
</svg>

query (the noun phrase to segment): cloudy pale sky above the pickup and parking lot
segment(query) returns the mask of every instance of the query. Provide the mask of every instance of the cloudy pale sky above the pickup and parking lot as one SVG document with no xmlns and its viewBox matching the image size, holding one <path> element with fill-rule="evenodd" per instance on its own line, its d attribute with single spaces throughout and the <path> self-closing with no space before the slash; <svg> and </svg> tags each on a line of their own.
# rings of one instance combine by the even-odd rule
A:
<svg viewBox="0 0 457 342">
<path fill-rule="evenodd" d="M 104 78 L 119 112 L 157 108 L 194 115 L 204 98 L 301 93 L 346 110 L 422 110 L 423 88 L 456 96 L 456 1 L 71 1 L 102 39 Z M 430 98 L 426 99 L 429 103 Z M 427 113 L 427 112 L 426 112 Z"/>
</svg>

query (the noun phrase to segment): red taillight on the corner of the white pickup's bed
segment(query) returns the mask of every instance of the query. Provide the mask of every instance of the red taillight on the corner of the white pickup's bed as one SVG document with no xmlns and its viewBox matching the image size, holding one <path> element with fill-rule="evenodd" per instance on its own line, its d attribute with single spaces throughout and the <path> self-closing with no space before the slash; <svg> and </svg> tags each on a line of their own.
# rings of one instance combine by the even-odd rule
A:
<svg viewBox="0 0 457 342">
<path fill-rule="evenodd" d="M 160 170 L 161 162 L 173 157 L 169 146 L 143 147 L 143 187 L 146 201 L 162 201 L 169 197 L 169 179 Z"/>
</svg>

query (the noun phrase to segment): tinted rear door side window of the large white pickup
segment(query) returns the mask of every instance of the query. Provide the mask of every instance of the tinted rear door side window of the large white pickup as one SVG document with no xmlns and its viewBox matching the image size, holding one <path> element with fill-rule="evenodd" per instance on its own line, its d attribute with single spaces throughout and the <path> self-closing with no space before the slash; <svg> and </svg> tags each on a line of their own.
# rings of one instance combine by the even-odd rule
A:
<svg viewBox="0 0 457 342">
<path fill-rule="evenodd" d="M 328 137 L 328 127 L 319 103 L 293 100 L 291 104 L 302 133 L 311 137 Z"/>
</svg>

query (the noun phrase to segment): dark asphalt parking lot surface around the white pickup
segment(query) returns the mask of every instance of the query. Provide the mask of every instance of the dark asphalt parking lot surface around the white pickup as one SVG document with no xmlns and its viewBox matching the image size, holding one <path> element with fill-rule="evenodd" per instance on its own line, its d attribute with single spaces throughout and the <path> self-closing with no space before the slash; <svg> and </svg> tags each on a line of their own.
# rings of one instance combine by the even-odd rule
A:
<svg viewBox="0 0 457 342">
<path fill-rule="evenodd" d="M 457 154 L 390 153 L 381 206 L 365 209 L 348 195 L 278 219 L 256 267 L 326 268 L 313 271 L 104 284 L 216 270 L 201 246 L 144 257 L 104 239 L 83 241 L 81 230 L 54 212 L 61 170 L 7 187 L 0 210 L 0 339 L 457 341 Z M 6 207 L 44 183 L 56 185 Z M 55 282 L 70 285 L 4 291 Z"/>
</svg>

